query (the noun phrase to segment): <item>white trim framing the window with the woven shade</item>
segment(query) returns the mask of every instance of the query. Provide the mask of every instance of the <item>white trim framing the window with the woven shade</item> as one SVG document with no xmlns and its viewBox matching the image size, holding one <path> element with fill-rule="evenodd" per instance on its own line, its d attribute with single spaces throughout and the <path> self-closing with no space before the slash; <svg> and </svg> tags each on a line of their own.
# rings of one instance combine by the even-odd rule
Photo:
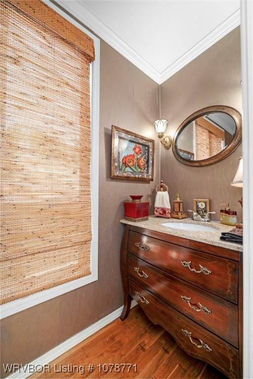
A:
<svg viewBox="0 0 253 379">
<path fill-rule="evenodd" d="M 92 241 L 91 241 L 91 274 L 71 282 L 60 284 L 22 299 L 2 304 L 0 307 L 0 319 L 11 316 L 14 313 L 30 308 L 34 305 L 46 302 L 66 292 L 73 291 L 98 279 L 98 142 L 99 142 L 99 73 L 100 73 L 100 40 L 66 14 L 51 1 L 43 0 L 48 6 L 58 12 L 66 20 L 71 22 L 94 41 L 95 61 L 91 64 L 91 208 L 92 208 Z M 59 1 L 61 4 L 61 1 Z"/>
</svg>

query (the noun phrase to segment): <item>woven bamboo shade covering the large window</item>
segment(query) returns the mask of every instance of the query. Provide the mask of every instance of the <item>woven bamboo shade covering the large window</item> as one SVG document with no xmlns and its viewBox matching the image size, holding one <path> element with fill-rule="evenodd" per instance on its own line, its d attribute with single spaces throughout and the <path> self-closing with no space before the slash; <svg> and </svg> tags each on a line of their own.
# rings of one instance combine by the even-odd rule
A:
<svg viewBox="0 0 253 379">
<path fill-rule="evenodd" d="M 1 303 L 90 274 L 93 40 L 40 0 L 0 1 Z"/>
</svg>

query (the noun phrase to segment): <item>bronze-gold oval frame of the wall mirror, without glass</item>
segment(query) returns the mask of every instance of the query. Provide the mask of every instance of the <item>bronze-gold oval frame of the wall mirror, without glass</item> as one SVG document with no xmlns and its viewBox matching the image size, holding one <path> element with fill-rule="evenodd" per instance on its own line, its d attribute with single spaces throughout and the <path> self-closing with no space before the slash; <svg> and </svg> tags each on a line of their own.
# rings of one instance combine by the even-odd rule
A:
<svg viewBox="0 0 253 379">
<path fill-rule="evenodd" d="M 236 131 L 235 131 L 235 135 L 232 138 L 232 140 L 230 141 L 230 143 L 221 152 L 219 152 L 218 154 L 213 155 L 207 159 L 188 160 L 188 159 L 181 157 L 181 155 L 179 155 L 179 153 L 176 150 L 176 140 L 177 140 L 177 137 L 179 136 L 181 130 L 184 127 L 186 127 L 187 124 L 194 121 L 197 117 L 203 116 L 207 113 L 216 113 L 216 112 L 229 114 L 235 121 Z M 241 140 L 242 140 L 242 116 L 241 116 L 241 114 L 234 108 L 226 107 L 223 105 L 215 105 L 212 107 L 200 109 L 199 111 L 188 116 L 181 123 L 181 125 L 176 130 L 174 137 L 173 137 L 172 151 L 173 151 L 173 154 L 176 157 L 176 159 L 178 159 L 181 163 L 187 164 L 188 166 L 203 167 L 203 166 L 209 166 L 211 164 L 217 163 L 220 160 L 226 158 L 228 155 L 230 155 L 238 147 Z"/>
</svg>

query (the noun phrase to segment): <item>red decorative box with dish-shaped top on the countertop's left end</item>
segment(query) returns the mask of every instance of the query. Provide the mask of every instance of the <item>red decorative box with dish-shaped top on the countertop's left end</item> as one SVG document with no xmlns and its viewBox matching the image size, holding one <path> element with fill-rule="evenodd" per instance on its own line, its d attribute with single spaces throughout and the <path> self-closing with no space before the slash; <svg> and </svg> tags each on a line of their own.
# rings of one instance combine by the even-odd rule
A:
<svg viewBox="0 0 253 379">
<path fill-rule="evenodd" d="M 133 222 L 148 220 L 149 202 L 141 201 L 143 195 L 130 195 L 132 201 L 125 201 L 125 219 Z"/>
</svg>

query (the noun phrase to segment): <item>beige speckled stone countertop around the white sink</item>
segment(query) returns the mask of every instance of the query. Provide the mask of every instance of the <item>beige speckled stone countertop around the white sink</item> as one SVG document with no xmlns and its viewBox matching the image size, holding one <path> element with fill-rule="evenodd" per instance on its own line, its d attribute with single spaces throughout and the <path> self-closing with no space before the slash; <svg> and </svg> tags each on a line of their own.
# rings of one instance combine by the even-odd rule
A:
<svg viewBox="0 0 253 379">
<path fill-rule="evenodd" d="M 172 218 L 171 219 L 165 219 L 162 217 L 149 216 L 149 219 L 147 221 L 135 223 L 135 222 L 123 219 L 123 220 L 121 220 L 121 223 L 133 225 L 135 227 L 142 227 L 145 229 L 159 231 L 161 233 L 172 234 L 172 235 L 176 235 L 178 237 L 192 239 L 192 240 L 199 241 L 199 242 L 204 242 L 204 243 L 208 243 L 211 245 L 224 247 L 225 249 L 243 251 L 242 245 L 239 245 L 239 244 L 233 243 L 233 242 L 221 241 L 219 239 L 221 232 L 230 231 L 231 229 L 233 229 L 233 227 L 228 226 L 228 225 L 223 225 L 223 224 L 221 224 L 219 222 L 215 222 L 215 221 L 211 221 L 210 223 L 206 224 L 206 223 L 202 223 L 202 222 L 193 221 L 190 218 L 178 220 L 178 219 L 172 219 Z M 190 223 L 190 224 L 205 225 L 208 227 L 213 227 L 217 231 L 180 230 L 180 229 L 175 229 L 175 228 L 171 228 L 171 227 L 164 227 L 162 225 L 164 223 Z"/>
</svg>

